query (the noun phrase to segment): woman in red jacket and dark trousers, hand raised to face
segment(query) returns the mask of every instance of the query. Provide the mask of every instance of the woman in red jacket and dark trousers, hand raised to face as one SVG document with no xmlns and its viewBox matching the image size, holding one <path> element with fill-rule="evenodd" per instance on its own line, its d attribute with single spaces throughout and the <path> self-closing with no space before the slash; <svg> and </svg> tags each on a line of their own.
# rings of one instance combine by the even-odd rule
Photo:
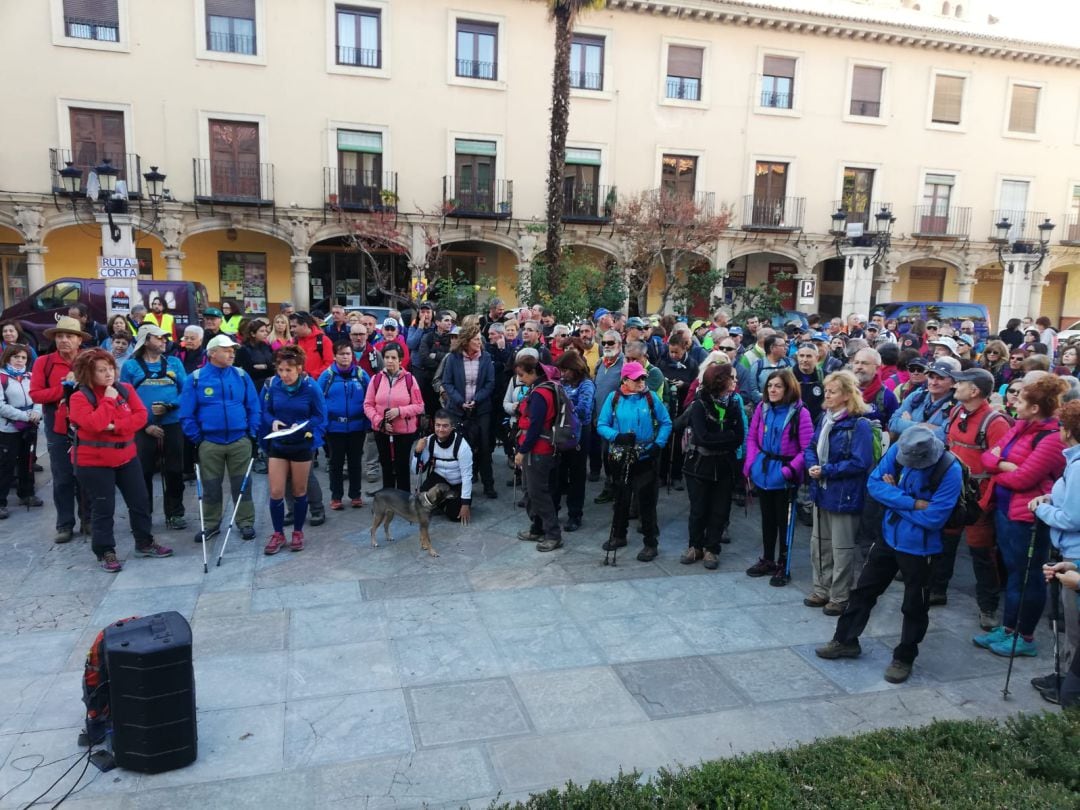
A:
<svg viewBox="0 0 1080 810">
<path fill-rule="evenodd" d="M 135 389 L 117 382 L 117 362 L 103 349 L 80 354 L 71 373 L 77 386 L 68 401 L 68 421 L 75 430 L 71 464 L 90 503 L 91 548 L 102 568 L 109 573 L 123 568 L 112 536 L 117 489 L 127 504 L 135 553 L 172 556 L 173 550 L 156 543 L 150 534 L 150 503 L 135 456 L 135 433 L 146 427 L 146 406 Z"/>
</svg>

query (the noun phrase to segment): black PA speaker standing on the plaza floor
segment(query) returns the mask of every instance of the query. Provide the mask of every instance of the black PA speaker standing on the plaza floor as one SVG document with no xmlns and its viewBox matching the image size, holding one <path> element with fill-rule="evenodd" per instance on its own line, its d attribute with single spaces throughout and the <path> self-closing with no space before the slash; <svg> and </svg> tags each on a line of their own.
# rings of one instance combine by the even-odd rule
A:
<svg viewBox="0 0 1080 810">
<path fill-rule="evenodd" d="M 160 773 L 194 761 L 191 626 L 175 610 L 105 629 L 117 765 Z"/>
</svg>

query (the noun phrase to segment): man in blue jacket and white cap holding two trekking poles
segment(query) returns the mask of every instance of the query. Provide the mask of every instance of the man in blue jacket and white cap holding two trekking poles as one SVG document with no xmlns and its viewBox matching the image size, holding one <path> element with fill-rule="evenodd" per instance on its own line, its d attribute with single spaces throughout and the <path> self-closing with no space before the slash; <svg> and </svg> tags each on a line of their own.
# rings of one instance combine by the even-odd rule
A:
<svg viewBox="0 0 1080 810">
<path fill-rule="evenodd" d="M 205 531 L 195 542 L 213 540 L 221 523 L 221 478 L 229 473 L 233 500 L 252 459 L 259 430 L 259 396 L 242 368 L 234 368 L 237 346 L 228 335 L 217 335 L 206 345 L 207 362 L 195 369 L 180 393 L 180 427 L 195 446 L 202 474 Z M 252 488 L 244 490 L 237 512 L 237 526 L 244 540 L 255 539 L 255 504 Z"/>
</svg>

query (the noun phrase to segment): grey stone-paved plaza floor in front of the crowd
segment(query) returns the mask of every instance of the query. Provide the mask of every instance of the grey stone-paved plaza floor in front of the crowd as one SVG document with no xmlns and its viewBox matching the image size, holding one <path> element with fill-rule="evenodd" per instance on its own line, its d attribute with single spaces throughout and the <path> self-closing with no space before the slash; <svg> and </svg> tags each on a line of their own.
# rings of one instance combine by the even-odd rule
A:
<svg viewBox="0 0 1080 810">
<path fill-rule="evenodd" d="M 605 567 L 610 509 L 592 503 L 599 485 L 590 484 L 583 529 L 541 554 L 515 539 L 527 521 L 505 469 L 497 474 L 500 498 L 481 498 L 471 526 L 433 522 L 437 558 L 400 518 L 395 542 L 369 548 L 369 509 L 328 512 L 302 553 L 264 556 L 258 476 L 259 539 L 234 535 L 208 575 L 191 541 L 189 487 L 191 530 L 158 532 L 173 558 L 131 556 L 119 515 L 130 558 L 116 576 L 84 539 L 52 543 L 49 473 L 39 474 L 46 507 L 0 523 L 0 807 L 25 806 L 78 757 L 95 634 L 160 610 L 191 621 L 199 758 L 157 775 L 91 766 L 65 807 L 480 808 L 620 769 L 649 774 L 820 737 L 1049 707 L 1027 684 L 1049 670 L 1049 652 L 1017 661 L 1003 702 L 1005 661 L 972 646 L 963 552 L 913 677 L 891 686 L 881 675 L 900 633 L 900 585 L 876 608 L 861 659 L 816 659 L 835 620 L 801 604 L 805 527 L 794 581 L 770 588 L 743 572 L 759 552 L 753 510 L 735 511 L 734 542 L 706 571 L 679 564 L 687 496 L 665 492 L 660 556 L 638 563 L 632 540 L 618 567 Z"/>
</svg>

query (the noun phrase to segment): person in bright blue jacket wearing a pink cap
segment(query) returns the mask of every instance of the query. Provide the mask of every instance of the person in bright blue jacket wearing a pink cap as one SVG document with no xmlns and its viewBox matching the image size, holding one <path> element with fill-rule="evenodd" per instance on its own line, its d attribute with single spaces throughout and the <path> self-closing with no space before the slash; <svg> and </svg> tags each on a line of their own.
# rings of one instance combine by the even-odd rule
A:
<svg viewBox="0 0 1080 810">
<path fill-rule="evenodd" d="M 672 418 L 660 397 L 648 389 L 647 374 L 640 363 L 625 363 L 620 387 L 608 395 L 600 408 L 596 429 L 609 443 L 618 447 L 635 448 L 637 459 L 622 482 L 616 484 L 615 515 L 611 537 L 604 543 L 604 551 L 615 551 L 626 544 L 630 524 L 630 502 L 636 496 L 642 517 L 645 548 L 637 554 L 643 563 L 657 558 L 660 527 L 657 525 L 657 500 L 660 497 L 657 462 L 660 450 L 672 434 Z"/>
</svg>

